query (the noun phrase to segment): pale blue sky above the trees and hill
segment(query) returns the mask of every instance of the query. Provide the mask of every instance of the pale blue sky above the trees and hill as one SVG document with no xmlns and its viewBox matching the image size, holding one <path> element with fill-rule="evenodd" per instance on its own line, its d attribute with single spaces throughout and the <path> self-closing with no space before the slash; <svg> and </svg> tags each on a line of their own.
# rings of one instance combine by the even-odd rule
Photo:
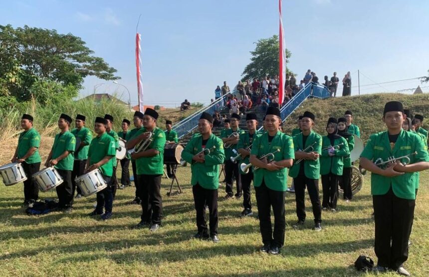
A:
<svg viewBox="0 0 429 277">
<path fill-rule="evenodd" d="M 352 95 L 358 70 L 361 94 L 418 85 L 429 92 L 429 83 L 416 79 L 375 85 L 428 75 L 428 11 L 427 0 L 283 0 L 287 66 L 297 79 L 307 69 L 319 80 L 350 71 Z M 236 85 L 254 42 L 278 34 L 278 0 L 0 0 L 1 25 L 72 33 L 118 70 L 121 85 L 87 77 L 80 96 L 95 87 L 133 105 L 140 14 L 147 105 L 209 103 L 216 85 Z"/>
</svg>

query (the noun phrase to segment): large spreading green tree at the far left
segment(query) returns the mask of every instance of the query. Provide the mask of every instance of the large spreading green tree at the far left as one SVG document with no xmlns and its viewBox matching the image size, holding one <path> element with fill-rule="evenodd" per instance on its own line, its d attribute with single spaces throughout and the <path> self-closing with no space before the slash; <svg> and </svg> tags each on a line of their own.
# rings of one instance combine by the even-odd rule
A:
<svg viewBox="0 0 429 277">
<path fill-rule="evenodd" d="M 117 70 L 93 56 L 94 51 L 85 44 L 71 33 L 0 25 L 0 95 L 28 100 L 38 81 L 54 81 L 78 90 L 86 76 L 119 79 L 114 75 Z"/>
</svg>

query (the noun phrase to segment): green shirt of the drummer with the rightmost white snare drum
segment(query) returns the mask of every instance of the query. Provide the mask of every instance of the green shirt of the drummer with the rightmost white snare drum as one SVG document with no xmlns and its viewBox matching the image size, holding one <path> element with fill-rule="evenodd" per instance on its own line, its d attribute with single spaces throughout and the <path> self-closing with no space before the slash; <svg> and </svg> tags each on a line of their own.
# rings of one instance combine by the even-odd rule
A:
<svg viewBox="0 0 429 277">
<path fill-rule="evenodd" d="M 116 143 L 115 139 L 104 132 L 101 137 L 95 137 L 91 141 L 91 145 L 88 149 L 89 165 L 98 163 L 106 156 L 116 155 Z M 101 174 L 107 177 L 113 175 L 113 159 L 110 159 L 107 163 L 99 167 Z"/>
</svg>

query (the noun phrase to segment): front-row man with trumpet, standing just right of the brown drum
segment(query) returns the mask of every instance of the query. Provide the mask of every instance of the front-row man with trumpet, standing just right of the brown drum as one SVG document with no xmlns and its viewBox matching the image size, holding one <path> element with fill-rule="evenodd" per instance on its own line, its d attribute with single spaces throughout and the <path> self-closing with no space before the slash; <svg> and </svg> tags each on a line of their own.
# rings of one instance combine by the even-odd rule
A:
<svg viewBox="0 0 429 277">
<path fill-rule="evenodd" d="M 193 137 L 182 152 L 182 159 L 191 164 L 191 184 L 197 213 L 198 233 L 196 239 L 210 239 L 218 243 L 217 237 L 217 189 L 219 187 L 219 165 L 223 163 L 223 142 L 212 133 L 213 117 L 201 114 L 198 130 L 201 135 Z M 209 153 L 203 150 L 208 149 Z M 206 208 L 209 207 L 210 234 L 207 230 Z"/>
</svg>

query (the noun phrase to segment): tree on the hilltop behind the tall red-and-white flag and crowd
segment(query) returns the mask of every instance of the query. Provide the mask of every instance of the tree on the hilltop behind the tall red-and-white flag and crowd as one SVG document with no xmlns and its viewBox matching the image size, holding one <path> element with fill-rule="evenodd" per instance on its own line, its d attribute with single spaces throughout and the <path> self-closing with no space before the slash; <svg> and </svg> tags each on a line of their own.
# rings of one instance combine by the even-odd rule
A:
<svg viewBox="0 0 429 277">
<path fill-rule="evenodd" d="M 270 76 L 278 75 L 278 36 L 273 35 L 269 38 L 262 38 L 254 42 L 255 50 L 250 51 L 252 57 L 250 63 L 244 68 L 242 81 L 253 78 L 261 78 L 267 74 Z M 290 58 L 290 51 L 286 49 L 286 62 Z M 286 68 L 286 73 L 292 74 Z"/>
</svg>

